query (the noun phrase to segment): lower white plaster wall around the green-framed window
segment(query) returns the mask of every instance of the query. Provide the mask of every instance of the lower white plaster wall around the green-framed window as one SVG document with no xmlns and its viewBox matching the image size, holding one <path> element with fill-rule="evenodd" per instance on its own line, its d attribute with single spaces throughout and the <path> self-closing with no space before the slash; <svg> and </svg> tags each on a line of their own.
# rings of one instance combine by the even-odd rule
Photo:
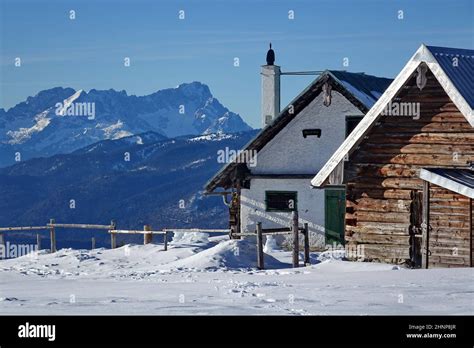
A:
<svg viewBox="0 0 474 348">
<path fill-rule="evenodd" d="M 241 192 L 241 227 L 255 231 L 257 222 L 263 228 L 289 227 L 290 212 L 266 212 L 265 191 L 297 191 L 299 222 L 308 223 L 311 233 L 324 236 L 324 190 L 312 189 L 311 179 L 252 179 L 250 189 Z"/>
</svg>

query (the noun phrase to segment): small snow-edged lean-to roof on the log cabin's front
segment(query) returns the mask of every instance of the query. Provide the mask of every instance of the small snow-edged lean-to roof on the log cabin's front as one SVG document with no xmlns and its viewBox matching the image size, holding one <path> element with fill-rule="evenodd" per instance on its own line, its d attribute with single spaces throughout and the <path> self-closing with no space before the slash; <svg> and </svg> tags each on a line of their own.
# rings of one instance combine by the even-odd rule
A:
<svg viewBox="0 0 474 348">
<path fill-rule="evenodd" d="M 474 198 L 474 171 L 469 168 L 423 168 L 420 171 L 420 178 Z"/>
</svg>

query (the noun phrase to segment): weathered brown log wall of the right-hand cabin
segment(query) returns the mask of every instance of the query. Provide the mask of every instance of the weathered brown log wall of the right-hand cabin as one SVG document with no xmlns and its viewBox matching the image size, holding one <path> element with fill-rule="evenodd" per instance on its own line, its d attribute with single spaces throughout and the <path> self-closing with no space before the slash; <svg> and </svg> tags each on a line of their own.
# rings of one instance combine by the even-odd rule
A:
<svg viewBox="0 0 474 348">
<path fill-rule="evenodd" d="M 412 77 L 395 102 L 420 103 L 419 119 L 381 116 L 345 168 L 346 241 L 362 244 L 365 259 L 387 262 L 403 262 L 410 257 L 413 199 L 422 190 L 420 169 L 466 167 L 468 161 L 474 161 L 474 129 L 433 75 L 428 75 L 422 91 Z M 452 221 L 448 217 L 458 208 L 466 213 L 466 201 L 453 192 L 441 191 L 434 193 L 433 199 L 434 222 L 450 228 L 440 230 L 441 244 L 433 245 L 445 255 L 445 237 L 457 231 L 463 231 L 460 235 L 465 237 L 470 228 L 464 217 Z M 444 205 L 440 205 L 441 199 Z M 465 256 L 466 250 L 460 251 Z M 449 258 L 440 257 L 440 265 L 459 262 L 459 258 L 451 263 Z"/>
</svg>

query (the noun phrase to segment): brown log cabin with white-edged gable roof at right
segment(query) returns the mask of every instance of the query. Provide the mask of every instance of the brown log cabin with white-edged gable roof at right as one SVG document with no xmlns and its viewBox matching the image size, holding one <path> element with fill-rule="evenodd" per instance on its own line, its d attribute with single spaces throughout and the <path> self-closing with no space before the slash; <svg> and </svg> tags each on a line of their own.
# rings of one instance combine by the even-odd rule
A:
<svg viewBox="0 0 474 348">
<path fill-rule="evenodd" d="M 471 189 L 452 179 L 472 185 L 473 106 L 474 51 L 422 45 L 313 178 L 346 188 L 341 232 L 357 258 L 473 265 Z"/>
</svg>

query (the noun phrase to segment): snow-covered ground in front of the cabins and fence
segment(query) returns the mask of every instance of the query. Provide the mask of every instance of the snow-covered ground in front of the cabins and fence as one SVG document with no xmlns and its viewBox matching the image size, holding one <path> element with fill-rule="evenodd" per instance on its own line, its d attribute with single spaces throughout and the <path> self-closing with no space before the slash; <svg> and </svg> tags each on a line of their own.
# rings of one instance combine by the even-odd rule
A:
<svg viewBox="0 0 474 348">
<path fill-rule="evenodd" d="M 472 314 L 474 270 L 410 270 L 255 246 L 227 237 L 175 236 L 162 245 L 41 251 L 0 261 L 1 314 Z"/>
</svg>

